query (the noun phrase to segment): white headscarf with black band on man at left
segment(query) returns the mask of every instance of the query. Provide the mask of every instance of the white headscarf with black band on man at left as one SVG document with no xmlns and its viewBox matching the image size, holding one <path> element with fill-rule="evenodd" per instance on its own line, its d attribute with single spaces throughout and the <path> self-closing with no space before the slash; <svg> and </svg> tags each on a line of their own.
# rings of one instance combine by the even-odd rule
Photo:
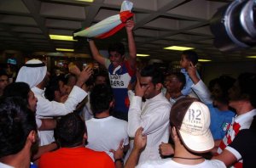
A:
<svg viewBox="0 0 256 168">
<path fill-rule="evenodd" d="M 44 80 L 46 72 L 47 67 L 42 61 L 31 59 L 20 68 L 16 81 L 26 82 L 32 88 Z"/>
</svg>

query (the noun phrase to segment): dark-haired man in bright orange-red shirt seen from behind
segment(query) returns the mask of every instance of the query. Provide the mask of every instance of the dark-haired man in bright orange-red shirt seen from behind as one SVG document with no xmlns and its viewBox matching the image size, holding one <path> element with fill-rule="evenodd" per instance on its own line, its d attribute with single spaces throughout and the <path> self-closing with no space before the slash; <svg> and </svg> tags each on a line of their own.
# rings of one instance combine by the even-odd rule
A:
<svg viewBox="0 0 256 168">
<path fill-rule="evenodd" d="M 84 148 L 86 135 L 84 120 L 77 114 L 65 115 L 55 129 L 61 148 L 43 154 L 39 167 L 114 167 L 108 154 Z"/>
</svg>

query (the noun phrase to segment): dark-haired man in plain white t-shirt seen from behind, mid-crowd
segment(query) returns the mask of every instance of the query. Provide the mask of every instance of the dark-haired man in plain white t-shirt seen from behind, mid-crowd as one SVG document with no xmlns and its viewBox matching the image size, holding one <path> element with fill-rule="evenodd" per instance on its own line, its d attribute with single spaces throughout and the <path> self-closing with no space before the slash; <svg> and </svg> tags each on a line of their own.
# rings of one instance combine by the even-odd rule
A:
<svg viewBox="0 0 256 168">
<path fill-rule="evenodd" d="M 88 131 L 87 148 L 96 151 L 105 151 L 113 160 L 111 149 L 119 148 L 124 140 L 128 145 L 127 121 L 110 116 L 109 110 L 113 107 L 112 88 L 106 84 L 96 85 L 90 92 L 90 107 L 94 118 L 86 121 Z"/>
</svg>

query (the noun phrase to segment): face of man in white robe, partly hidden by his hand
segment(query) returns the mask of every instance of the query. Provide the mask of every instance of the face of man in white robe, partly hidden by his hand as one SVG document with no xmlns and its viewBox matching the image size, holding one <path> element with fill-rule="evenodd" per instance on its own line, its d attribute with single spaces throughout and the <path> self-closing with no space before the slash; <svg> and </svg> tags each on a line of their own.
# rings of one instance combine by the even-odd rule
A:
<svg viewBox="0 0 256 168">
<path fill-rule="evenodd" d="M 146 87 L 146 91 L 144 93 L 144 98 L 154 98 L 157 94 L 159 94 L 159 91 L 157 91 L 154 83 L 152 83 L 152 77 L 140 77 L 140 84 L 141 87 Z"/>
</svg>

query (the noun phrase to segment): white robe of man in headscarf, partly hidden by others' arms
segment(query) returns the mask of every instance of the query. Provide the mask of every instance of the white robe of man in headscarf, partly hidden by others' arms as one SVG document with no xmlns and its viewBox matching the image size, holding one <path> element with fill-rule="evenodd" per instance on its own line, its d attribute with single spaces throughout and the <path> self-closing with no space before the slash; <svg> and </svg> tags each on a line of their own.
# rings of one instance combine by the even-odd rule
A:
<svg viewBox="0 0 256 168">
<path fill-rule="evenodd" d="M 38 98 L 37 103 L 37 118 L 45 118 L 51 116 L 67 115 L 76 109 L 76 106 L 86 97 L 87 93 L 80 87 L 74 86 L 64 104 L 49 101 L 44 98 L 44 90 L 38 87 L 32 87 L 35 97 Z M 52 143 L 55 141 L 53 131 L 40 131 L 38 136 L 40 138 L 40 146 Z"/>
</svg>

